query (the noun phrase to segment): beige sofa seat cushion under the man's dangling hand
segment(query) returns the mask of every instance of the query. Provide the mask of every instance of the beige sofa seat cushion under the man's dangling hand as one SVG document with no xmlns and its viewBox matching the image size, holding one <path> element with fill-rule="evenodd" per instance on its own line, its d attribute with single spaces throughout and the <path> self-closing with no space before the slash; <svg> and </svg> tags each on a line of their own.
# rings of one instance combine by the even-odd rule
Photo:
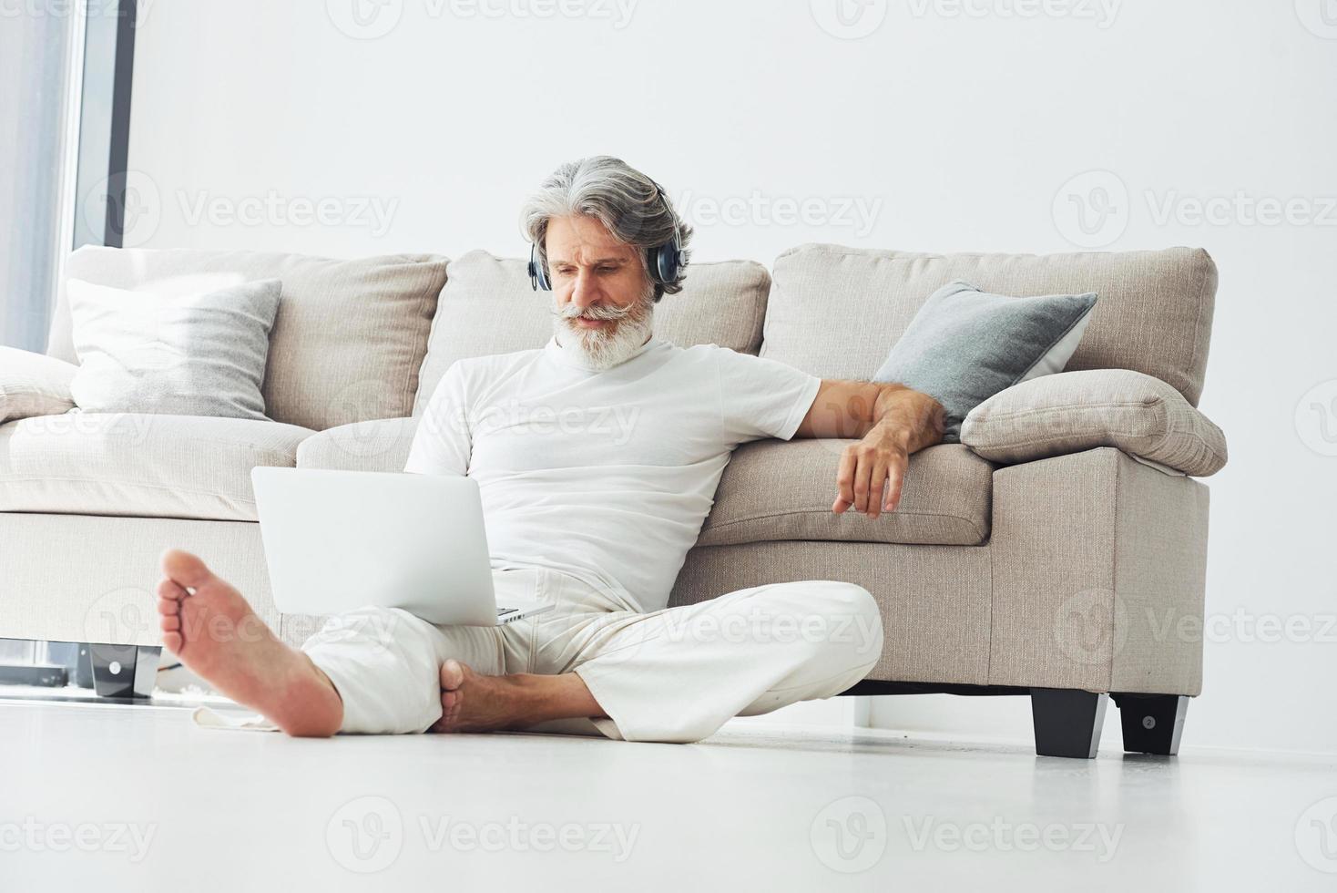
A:
<svg viewBox="0 0 1337 893">
<path fill-rule="evenodd" d="M 910 456 L 901 504 L 876 520 L 832 512 L 849 440 L 762 440 L 734 451 L 698 545 L 773 540 L 979 545 L 989 536 L 993 465 L 960 444 Z"/>
</svg>

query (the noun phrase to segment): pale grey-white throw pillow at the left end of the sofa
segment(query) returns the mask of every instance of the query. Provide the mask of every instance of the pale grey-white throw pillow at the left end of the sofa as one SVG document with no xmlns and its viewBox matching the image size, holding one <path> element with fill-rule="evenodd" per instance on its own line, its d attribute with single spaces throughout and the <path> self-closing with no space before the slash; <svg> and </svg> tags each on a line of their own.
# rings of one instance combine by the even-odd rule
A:
<svg viewBox="0 0 1337 893">
<path fill-rule="evenodd" d="M 282 283 L 164 295 L 82 279 L 66 285 L 84 412 L 265 418 L 261 384 Z"/>
</svg>

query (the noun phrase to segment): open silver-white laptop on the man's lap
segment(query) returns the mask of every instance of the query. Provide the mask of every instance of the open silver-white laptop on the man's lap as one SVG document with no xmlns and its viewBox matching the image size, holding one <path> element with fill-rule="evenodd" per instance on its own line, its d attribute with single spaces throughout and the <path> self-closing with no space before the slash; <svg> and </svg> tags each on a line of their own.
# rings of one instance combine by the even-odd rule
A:
<svg viewBox="0 0 1337 893">
<path fill-rule="evenodd" d="M 497 604 L 479 485 L 468 477 L 254 468 L 274 606 L 285 614 L 404 608 L 499 626 L 551 608 Z"/>
</svg>

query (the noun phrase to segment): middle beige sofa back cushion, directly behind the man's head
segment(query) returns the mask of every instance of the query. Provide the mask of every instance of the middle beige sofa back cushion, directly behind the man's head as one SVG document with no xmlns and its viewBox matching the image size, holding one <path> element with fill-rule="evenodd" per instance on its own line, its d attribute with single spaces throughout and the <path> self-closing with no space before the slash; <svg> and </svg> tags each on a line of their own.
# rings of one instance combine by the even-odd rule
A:
<svg viewBox="0 0 1337 893">
<path fill-rule="evenodd" d="M 456 360 L 541 348 L 552 336 L 554 298 L 529 286 L 527 261 L 469 251 L 451 261 L 414 414 Z M 655 305 L 655 334 L 681 348 L 717 344 L 739 353 L 761 348 L 770 274 L 753 261 L 693 263 L 683 290 Z"/>
</svg>

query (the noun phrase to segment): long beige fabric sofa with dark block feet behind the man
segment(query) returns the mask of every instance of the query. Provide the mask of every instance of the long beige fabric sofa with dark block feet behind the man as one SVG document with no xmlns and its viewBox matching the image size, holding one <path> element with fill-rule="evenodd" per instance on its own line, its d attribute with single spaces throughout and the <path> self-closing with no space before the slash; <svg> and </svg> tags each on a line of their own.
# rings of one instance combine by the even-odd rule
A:
<svg viewBox="0 0 1337 893">
<path fill-rule="evenodd" d="M 251 467 L 398 471 L 451 362 L 550 333 L 551 298 L 531 291 L 524 263 L 481 251 L 447 262 L 82 249 L 67 275 L 182 293 L 283 281 L 263 386 L 271 422 L 66 412 L 76 357 L 63 299 L 47 357 L 0 354 L 0 636 L 100 643 L 95 670 L 112 694 L 131 692 L 136 658 L 139 690 L 151 679 L 167 545 L 206 556 L 286 640 L 314 628 L 271 604 Z M 1202 688 L 1207 488 L 1193 476 L 1225 461 L 1219 429 L 1195 409 L 1217 285 L 1205 251 L 806 245 L 771 273 L 694 265 L 655 324 L 679 345 L 866 378 L 956 278 L 1100 301 L 1064 373 L 999 394 L 967 420 L 963 444 L 912 459 L 892 515 L 830 513 L 844 441 L 739 448 L 673 603 L 850 580 L 885 623 L 881 660 L 856 692 L 1029 695 L 1038 751 L 1076 757 L 1094 755 L 1114 695 L 1126 749 L 1174 753 Z"/>
</svg>

